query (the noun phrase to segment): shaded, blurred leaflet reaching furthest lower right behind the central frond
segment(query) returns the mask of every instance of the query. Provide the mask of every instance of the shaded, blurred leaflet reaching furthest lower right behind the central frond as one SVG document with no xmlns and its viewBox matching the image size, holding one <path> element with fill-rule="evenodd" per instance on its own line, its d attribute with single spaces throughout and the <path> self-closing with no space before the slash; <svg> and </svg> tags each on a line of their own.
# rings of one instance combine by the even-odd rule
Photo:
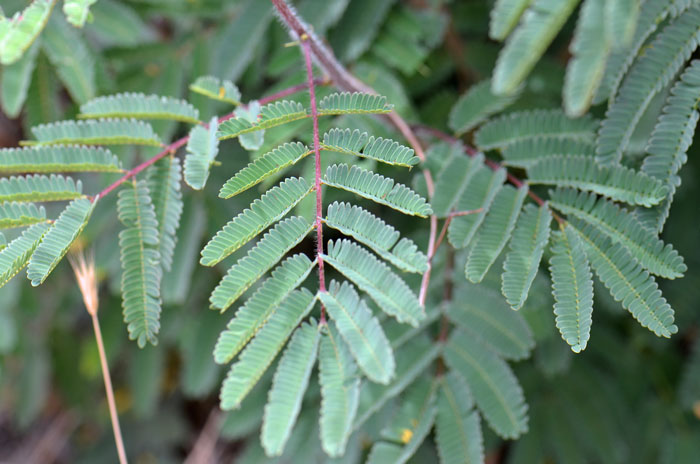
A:
<svg viewBox="0 0 700 464">
<path fill-rule="evenodd" d="M 477 339 L 454 331 L 445 346 L 445 362 L 462 374 L 491 428 L 503 438 L 527 431 L 527 404 L 508 364 Z"/>
</svg>

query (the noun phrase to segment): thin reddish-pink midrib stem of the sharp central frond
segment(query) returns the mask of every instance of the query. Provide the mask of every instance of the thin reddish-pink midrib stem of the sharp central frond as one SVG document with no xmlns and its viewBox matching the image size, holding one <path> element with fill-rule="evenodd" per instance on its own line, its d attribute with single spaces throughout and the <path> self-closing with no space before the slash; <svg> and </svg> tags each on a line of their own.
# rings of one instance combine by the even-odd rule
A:
<svg viewBox="0 0 700 464">
<path fill-rule="evenodd" d="M 311 100 L 311 121 L 314 131 L 314 189 L 316 190 L 316 257 L 318 259 L 318 290 L 326 291 L 326 275 L 323 269 L 323 199 L 321 197 L 321 142 L 318 135 L 318 108 L 316 107 L 316 87 L 314 86 L 314 72 L 311 67 L 311 45 L 308 36 L 301 36 L 301 47 L 304 50 L 306 62 L 306 77 L 309 85 L 309 99 Z M 321 305 L 321 324 L 326 322 L 326 309 Z"/>
</svg>

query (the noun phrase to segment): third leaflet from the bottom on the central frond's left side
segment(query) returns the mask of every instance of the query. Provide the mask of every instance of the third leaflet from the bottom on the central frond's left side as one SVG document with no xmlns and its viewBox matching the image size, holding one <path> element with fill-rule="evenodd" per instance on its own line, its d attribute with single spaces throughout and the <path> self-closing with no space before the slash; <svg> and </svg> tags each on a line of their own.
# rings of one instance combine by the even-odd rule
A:
<svg viewBox="0 0 700 464">
<path fill-rule="evenodd" d="M 280 302 L 306 279 L 315 262 L 298 254 L 284 260 L 272 276 L 248 298 L 221 332 L 214 348 L 214 360 L 225 364 L 267 323 Z"/>
</svg>

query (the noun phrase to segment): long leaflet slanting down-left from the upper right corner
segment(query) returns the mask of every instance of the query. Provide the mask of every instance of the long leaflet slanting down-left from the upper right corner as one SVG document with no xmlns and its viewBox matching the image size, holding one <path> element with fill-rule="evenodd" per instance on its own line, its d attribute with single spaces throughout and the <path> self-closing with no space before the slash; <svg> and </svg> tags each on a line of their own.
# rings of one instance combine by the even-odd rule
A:
<svg viewBox="0 0 700 464">
<path fill-rule="evenodd" d="M 686 10 L 658 34 L 635 62 L 617 98 L 605 113 L 596 159 L 606 165 L 622 159 L 639 119 L 651 99 L 676 75 L 700 40 L 700 7 Z"/>
</svg>

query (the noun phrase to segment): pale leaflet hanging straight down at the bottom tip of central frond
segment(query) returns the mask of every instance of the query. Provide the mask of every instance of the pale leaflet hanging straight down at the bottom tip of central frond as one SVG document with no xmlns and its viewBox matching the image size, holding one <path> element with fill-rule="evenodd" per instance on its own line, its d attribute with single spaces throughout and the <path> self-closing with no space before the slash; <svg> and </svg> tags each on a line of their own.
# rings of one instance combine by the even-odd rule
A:
<svg viewBox="0 0 700 464">
<path fill-rule="evenodd" d="M 321 446 L 330 457 L 345 453 L 360 396 L 360 379 L 350 351 L 331 324 L 321 337 L 318 383 L 321 386 Z"/>
</svg>

